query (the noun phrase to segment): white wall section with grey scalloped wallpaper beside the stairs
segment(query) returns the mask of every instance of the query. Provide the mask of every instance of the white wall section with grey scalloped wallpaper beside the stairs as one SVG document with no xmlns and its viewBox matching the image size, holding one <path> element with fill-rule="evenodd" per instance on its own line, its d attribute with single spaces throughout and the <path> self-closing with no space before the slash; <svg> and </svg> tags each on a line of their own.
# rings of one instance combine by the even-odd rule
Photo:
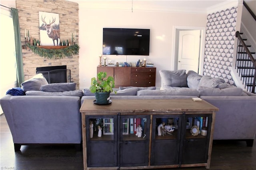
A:
<svg viewBox="0 0 256 170">
<path fill-rule="evenodd" d="M 207 16 L 204 75 L 221 77 L 234 85 L 230 75 L 234 54 L 237 7 Z"/>
</svg>

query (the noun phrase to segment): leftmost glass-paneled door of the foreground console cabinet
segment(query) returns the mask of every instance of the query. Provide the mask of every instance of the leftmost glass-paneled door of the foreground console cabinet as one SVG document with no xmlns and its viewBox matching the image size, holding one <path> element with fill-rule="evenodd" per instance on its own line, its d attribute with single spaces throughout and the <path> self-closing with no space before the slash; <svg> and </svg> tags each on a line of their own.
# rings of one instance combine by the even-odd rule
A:
<svg viewBox="0 0 256 170">
<path fill-rule="evenodd" d="M 88 167 L 117 166 L 117 116 L 86 115 Z"/>
</svg>

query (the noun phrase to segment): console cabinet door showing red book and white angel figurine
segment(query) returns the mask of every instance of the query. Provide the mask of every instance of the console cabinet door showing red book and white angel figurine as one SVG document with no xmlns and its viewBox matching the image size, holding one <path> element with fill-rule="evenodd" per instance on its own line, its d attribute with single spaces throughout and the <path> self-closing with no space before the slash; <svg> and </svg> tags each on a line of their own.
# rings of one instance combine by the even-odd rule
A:
<svg viewBox="0 0 256 170">
<path fill-rule="evenodd" d="M 150 116 L 120 116 L 120 166 L 147 166 Z"/>
</svg>

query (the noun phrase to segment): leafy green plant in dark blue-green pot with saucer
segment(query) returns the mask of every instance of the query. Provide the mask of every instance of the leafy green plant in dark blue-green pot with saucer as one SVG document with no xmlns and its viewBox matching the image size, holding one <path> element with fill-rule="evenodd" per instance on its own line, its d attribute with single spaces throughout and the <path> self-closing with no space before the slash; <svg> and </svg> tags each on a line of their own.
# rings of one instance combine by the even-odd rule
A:
<svg viewBox="0 0 256 170">
<path fill-rule="evenodd" d="M 111 101 L 108 100 L 110 93 L 113 92 L 113 88 L 115 87 L 114 77 L 107 77 L 106 72 L 99 72 L 97 74 L 97 78 L 93 77 L 91 79 L 90 91 L 95 93 L 96 104 L 108 104 Z M 116 91 L 115 91 L 116 93 Z"/>
</svg>

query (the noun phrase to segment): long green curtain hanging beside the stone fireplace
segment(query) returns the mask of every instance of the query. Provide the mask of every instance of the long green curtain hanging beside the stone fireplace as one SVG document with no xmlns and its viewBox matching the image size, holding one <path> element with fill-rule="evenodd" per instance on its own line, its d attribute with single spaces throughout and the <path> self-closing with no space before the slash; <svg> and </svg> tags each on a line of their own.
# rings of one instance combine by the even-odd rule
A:
<svg viewBox="0 0 256 170">
<path fill-rule="evenodd" d="M 21 87 L 21 83 L 24 81 L 23 60 L 22 60 L 22 45 L 20 39 L 20 23 L 18 17 L 18 10 L 12 8 L 12 20 L 14 26 L 14 38 L 15 38 L 15 51 L 16 51 L 16 75 L 17 75 L 17 87 Z"/>
</svg>

